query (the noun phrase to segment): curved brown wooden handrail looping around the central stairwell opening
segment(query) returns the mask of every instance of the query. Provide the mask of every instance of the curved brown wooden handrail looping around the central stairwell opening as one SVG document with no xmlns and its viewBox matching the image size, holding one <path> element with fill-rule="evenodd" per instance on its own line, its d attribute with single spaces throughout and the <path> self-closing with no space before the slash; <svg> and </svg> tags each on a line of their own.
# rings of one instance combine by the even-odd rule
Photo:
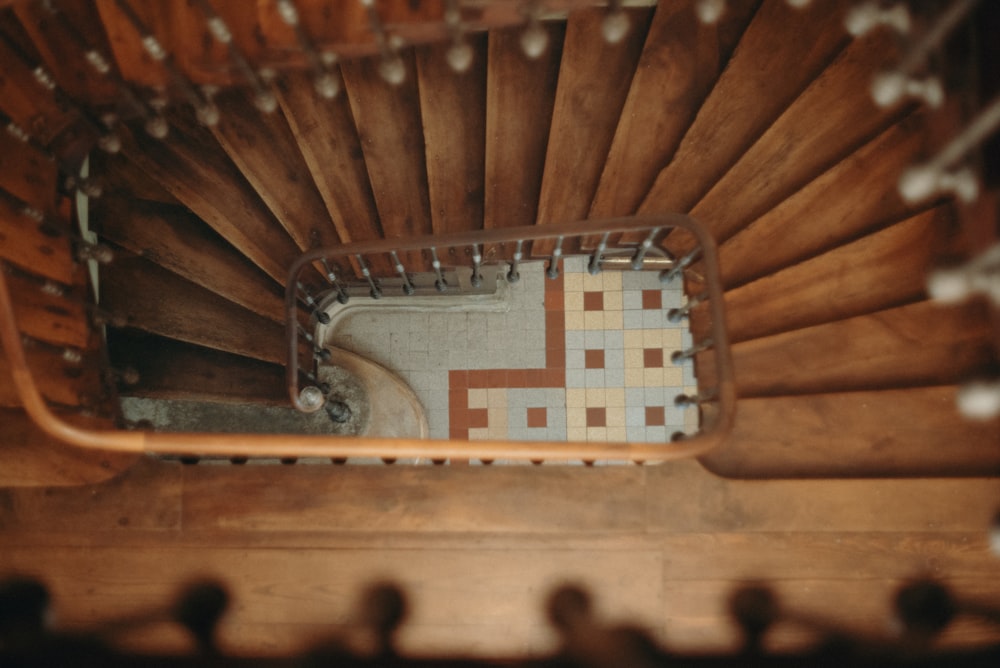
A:
<svg viewBox="0 0 1000 668">
<path fill-rule="evenodd" d="M 639 221 L 639 222 L 637 222 Z M 656 221 L 652 223 L 652 221 Z M 646 463 L 697 457 L 719 445 L 732 429 L 736 411 L 736 387 L 732 372 L 722 308 L 722 290 L 716 245 L 710 235 L 688 216 L 667 214 L 649 218 L 618 218 L 604 221 L 606 230 L 628 231 L 650 224 L 679 227 L 694 234 L 704 249 L 708 276 L 709 306 L 712 309 L 712 337 L 718 355 L 719 414 L 715 428 L 677 443 L 563 443 L 551 441 L 459 441 L 357 438 L 314 435 L 173 433 L 124 430 L 94 430 L 72 425 L 58 417 L 42 398 L 31 375 L 21 335 L 17 328 L 13 300 L 3 272 L 0 272 L 0 342 L 6 352 L 15 388 L 25 411 L 42 431 L 68 445 L 96 450 L 148 452 L 174 455 L 251 456 L 251 457 L 374 457 L 374 458 L 476 458 L 476 459 L 545 459 L 545 460 L 624 460 Z M 595 221 L 569 225 L 545 226 L 537 236 L 551 236 L 577 231 L 594 231 Z M 491 230 L 475 235 L 477 243 L 498 243 L 510 239 L 511 230 Z M 461 244 L 469 234 L 435 237 L 438 245 Z M 378 251 L 385 242 L 351 244 L 351 252 Z M 403 242 L 398 250 L 408 250 L 419 241 Z M 323 250 L 306 253 L 292 266 L 291 275 L 307 263 L 319 259 Z M 294 285 L 293 283 L 290 285 Z M 294 287 L 286 294 L 286 306 L 294 316 Z M 294 322 L 294 321 L 293 321 Z M 294 327 L 294 324 L 290 325 Z M 291 338 L 291 337 L 290 337 Z M 294 338 L 291 340 L 294 341 Z M 294 352 L 294 351 L 292 351 Z"/>
</svg>

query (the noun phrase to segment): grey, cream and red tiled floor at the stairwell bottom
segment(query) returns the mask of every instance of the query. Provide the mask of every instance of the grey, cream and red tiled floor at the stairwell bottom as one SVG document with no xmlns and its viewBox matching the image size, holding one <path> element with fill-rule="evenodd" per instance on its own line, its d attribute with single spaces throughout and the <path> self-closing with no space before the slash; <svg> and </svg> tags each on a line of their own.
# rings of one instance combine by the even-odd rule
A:
<svg viewBox="0 0 1000 668">
<path fill-rule="evenodd" d="M 679 285 L 656 272 L 586 273 L 567 258 L 556 280 L 521 267 L 502 310 L 345 314 L 327 339 L 395 371 L 427 410 L 432 438 L 663 442 L 696 427 L 695 392 Z"/>
</svg>

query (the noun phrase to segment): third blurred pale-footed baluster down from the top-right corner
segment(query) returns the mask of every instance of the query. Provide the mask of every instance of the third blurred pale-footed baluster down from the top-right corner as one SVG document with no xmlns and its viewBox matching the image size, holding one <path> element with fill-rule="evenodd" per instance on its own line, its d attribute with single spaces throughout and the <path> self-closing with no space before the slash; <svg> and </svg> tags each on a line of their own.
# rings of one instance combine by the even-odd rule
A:
<svg viewBox="0 0 1000 668">
<path fill-rule="evenodd" d="M 979 196 L 979 181 L 969 168 L 954 169 L 955 163 L 984 142 L 1000 127 L 1000 97 L 981 111 L 972 123 L 952 139 L 936 156 L 922 165 L 910 167 L 899 179 L 899 194 L 907 204 L 915 204 L 936 194 L 954 193 L 962 202 Z"/>
</svg>

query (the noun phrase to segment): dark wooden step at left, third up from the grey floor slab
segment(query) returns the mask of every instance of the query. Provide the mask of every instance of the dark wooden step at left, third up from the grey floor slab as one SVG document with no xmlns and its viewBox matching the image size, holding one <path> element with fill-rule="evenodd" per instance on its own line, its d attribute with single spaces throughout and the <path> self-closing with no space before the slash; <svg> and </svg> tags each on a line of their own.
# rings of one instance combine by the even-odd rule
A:
<svg viewBox="0 0 1000 668">
<path fill-rule="evenodd" d="M 106 195 L 91 210 L 91 228 L 257 315 L 285 320 L 284 291 L 186 209 Z"/>
</svg>

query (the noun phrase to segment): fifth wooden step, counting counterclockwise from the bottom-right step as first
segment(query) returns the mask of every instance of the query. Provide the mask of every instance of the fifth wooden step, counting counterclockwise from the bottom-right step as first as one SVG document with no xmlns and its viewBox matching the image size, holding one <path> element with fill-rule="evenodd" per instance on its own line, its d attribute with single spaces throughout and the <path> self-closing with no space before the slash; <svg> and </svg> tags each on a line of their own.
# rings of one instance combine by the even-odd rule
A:
<svg viewBox="0 0 1000 668">
<path fill-rule="evenodd" d="M 880 109 L 868 93 L 873 72 L 896 58 L 879 33 L 852 42 L 691 209 L 717 241 L 777 206 L 905 111 Z M 693 246 L 681 240 L 678 252 Z"/>
</svg>

